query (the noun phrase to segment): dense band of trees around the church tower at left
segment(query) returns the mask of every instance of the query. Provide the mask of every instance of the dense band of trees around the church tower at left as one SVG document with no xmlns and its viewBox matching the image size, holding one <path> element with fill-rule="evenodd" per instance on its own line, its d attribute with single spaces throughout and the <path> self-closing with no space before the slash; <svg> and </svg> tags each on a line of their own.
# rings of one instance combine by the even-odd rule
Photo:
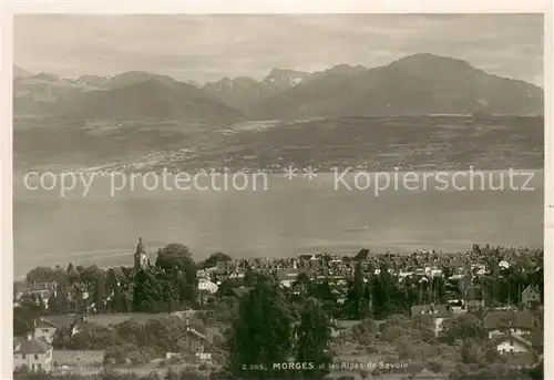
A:
<svg viewBox="0 0 554 380">
<path fill-rule="evenodd" d="M 181 244 L 160 249 L 155 265 L 144 268 L 83 268 L 70 263 L 65 270 L 34 268 L 27 281 L 30 286 L 54 283 L 55 292 L 48 300 L 19 302 L 21 307 L 14 312 L 17 332 L 24 332 L 29 329 L 25 323 L 44 314 L 161 312 L 196 301 L 196 265 Z M 39 309 L 30 304 L 39 305 Z"/>
</svg>

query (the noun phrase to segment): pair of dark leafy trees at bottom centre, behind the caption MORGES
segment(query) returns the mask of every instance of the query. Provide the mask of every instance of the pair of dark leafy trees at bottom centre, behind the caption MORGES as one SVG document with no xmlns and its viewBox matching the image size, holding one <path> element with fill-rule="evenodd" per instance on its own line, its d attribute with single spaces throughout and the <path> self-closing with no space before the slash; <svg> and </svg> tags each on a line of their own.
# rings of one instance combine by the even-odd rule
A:
<svg viewBox="0 0 554 380">
<path fill-rule="evenodd" d="M 314 297 L 293 302 L 270 276 L 256 276 L 226 337 L 223 378 L 321 379 L 328 372 L 330 321 L 321 302 Z"/>
</svg>

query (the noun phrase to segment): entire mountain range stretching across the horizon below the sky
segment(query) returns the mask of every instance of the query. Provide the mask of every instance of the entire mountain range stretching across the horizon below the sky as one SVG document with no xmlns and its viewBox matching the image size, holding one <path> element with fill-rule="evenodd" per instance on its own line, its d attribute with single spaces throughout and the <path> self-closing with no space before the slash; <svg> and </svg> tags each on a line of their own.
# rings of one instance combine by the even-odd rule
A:
<svg viewBox="0 0 554 380">
<path fill-rule="evenodd" d="M 350 115 L 526 115 L 543 114 L 544 107 L 544 92 L 536 85 L 428 53 L 371 69 L 273 69 L 261 81 L 223 78 L 202 86 L 138 71 L 66 79 L 14 66 L 13 76 L 16 117 L 226 124 Z"/>
</svg>

